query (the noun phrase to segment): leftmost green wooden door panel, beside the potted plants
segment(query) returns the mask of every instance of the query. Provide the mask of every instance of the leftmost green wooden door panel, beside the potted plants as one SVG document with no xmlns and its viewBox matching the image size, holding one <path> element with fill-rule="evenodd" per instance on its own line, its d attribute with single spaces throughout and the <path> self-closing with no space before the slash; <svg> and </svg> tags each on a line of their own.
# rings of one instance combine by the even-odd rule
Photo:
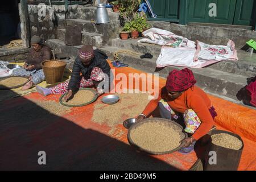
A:
<svg viewBox="0 0 256 182">
<path fill-rule="evenodd" d="M 170 22 L 179 22 L 179 0 L 148 0 L 150 2 L 156 19 L 149 18 L 150 20 L 164 20 Z M 148 17 L 151 17 L 148 15 Z"/>
</svg>

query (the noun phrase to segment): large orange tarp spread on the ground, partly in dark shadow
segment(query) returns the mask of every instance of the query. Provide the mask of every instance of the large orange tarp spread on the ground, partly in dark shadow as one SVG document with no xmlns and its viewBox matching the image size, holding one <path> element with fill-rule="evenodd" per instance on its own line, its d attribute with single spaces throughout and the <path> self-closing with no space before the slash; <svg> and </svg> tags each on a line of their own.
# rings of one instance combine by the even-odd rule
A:
<svg viewBox="0 0 256 182">
<path fill-rule="evenodd" d="M 115 75 L 118 73 L 127 76 L 129 73 L 143 72 L 133 68 L 115 68 Z M 159 78 L 159 88 L 164 84 L 165 80 Z M 123 85 L 125 87 L 129 86 Z M 38 93 L 31 93 L 2 102 L 0 111 L 9 114 L 10 121 L 0 123 L 0 169 L 188 170 L 197 160 L 195 152 L 189 155 L 174 152 L 159 156 L 136 152 L 129 146 L 127 130 L 122 124 L 115 126 L 113 130 L 105 123 L 92 122 L 94 105 L 101 102 L 101 98 L 91 105 L 74 107 L 61 117 L 35 117 L 31 121 L 19 122 L 23 113 L 17 113 L 17 106 L 26 107 L 30 100 L 58 102 L 59 97 L 43 97 Z M 233 131 L 243 139 L 245 146 L 238 169 L 256 170 L 255 110 L 209 97 L 218 113 L 218 129 Z M 110 130 L 113 130 L 111 134 Z M 47 153 L 46 166 L 37 163 L 40 150 Z"/>
</svg>

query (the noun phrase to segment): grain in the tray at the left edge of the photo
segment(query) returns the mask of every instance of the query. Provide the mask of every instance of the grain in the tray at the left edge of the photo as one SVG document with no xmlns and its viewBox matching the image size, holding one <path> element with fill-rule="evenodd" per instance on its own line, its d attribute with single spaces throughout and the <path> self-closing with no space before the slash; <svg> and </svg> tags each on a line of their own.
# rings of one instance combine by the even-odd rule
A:
<svg viewBox="0 0 256 182">
<path fill-rule="evenodd" d="M 0 88 L 12 88 L 14 86 L 24 85 L 28 79 L 26 77 L 9 77 L 0 80 Z"/>
</svg>

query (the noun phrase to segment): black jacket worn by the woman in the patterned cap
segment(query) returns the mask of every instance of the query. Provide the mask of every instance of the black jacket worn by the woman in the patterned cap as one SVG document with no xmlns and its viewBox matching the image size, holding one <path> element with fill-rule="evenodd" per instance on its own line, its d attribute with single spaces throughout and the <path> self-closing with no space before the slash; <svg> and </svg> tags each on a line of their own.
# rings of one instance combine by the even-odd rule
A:
<svg viewBox="0 0 256 182">
<path fill-rule="evenodd" d="M 85 78 L 85 80 L 90 79 L 90 74 L 92 73 L 92 69 L 94 67 L 101 68 L 102 71 L 108 75 L 109 77 L 109 83 L 110 83 L 110 75 L 111 68 L 106 61 L 108 59 L 108 56 L 106 54 L 98 49 L 94 50 L 94 58 L 92 60 L 92 63 L 89 65 L 82 64 L 80 57 L 77 56 L 75 63 L 73 65 L 73 70 L 71 73 L 71 80 L 68 84 L 68 90 L 72 90 L 73 92 L 77 92 L 79 90 L 80 82 L 82 77 L 80 76 L 80 73 L 82 73 L 82 76 Z"/>
</svg>

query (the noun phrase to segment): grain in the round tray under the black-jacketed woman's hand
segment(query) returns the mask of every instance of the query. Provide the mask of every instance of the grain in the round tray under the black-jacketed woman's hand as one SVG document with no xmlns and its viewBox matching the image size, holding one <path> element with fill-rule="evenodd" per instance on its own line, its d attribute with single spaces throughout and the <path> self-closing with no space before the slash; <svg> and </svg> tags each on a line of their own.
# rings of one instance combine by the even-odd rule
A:
<svg viewBox="0 0 256 182">
<path fill-rule="evenodd" d="M 86 102 L 90 102 L 95 97 L 95 94 L 90 90 L 79 90 L 75 94 L 75 96 L 69 100 L 68 102 L 64 101 L 64 97 L 62 98 L 62 102 L 68 105 L 81 105 L 85 104 Z"/>
</svg>

